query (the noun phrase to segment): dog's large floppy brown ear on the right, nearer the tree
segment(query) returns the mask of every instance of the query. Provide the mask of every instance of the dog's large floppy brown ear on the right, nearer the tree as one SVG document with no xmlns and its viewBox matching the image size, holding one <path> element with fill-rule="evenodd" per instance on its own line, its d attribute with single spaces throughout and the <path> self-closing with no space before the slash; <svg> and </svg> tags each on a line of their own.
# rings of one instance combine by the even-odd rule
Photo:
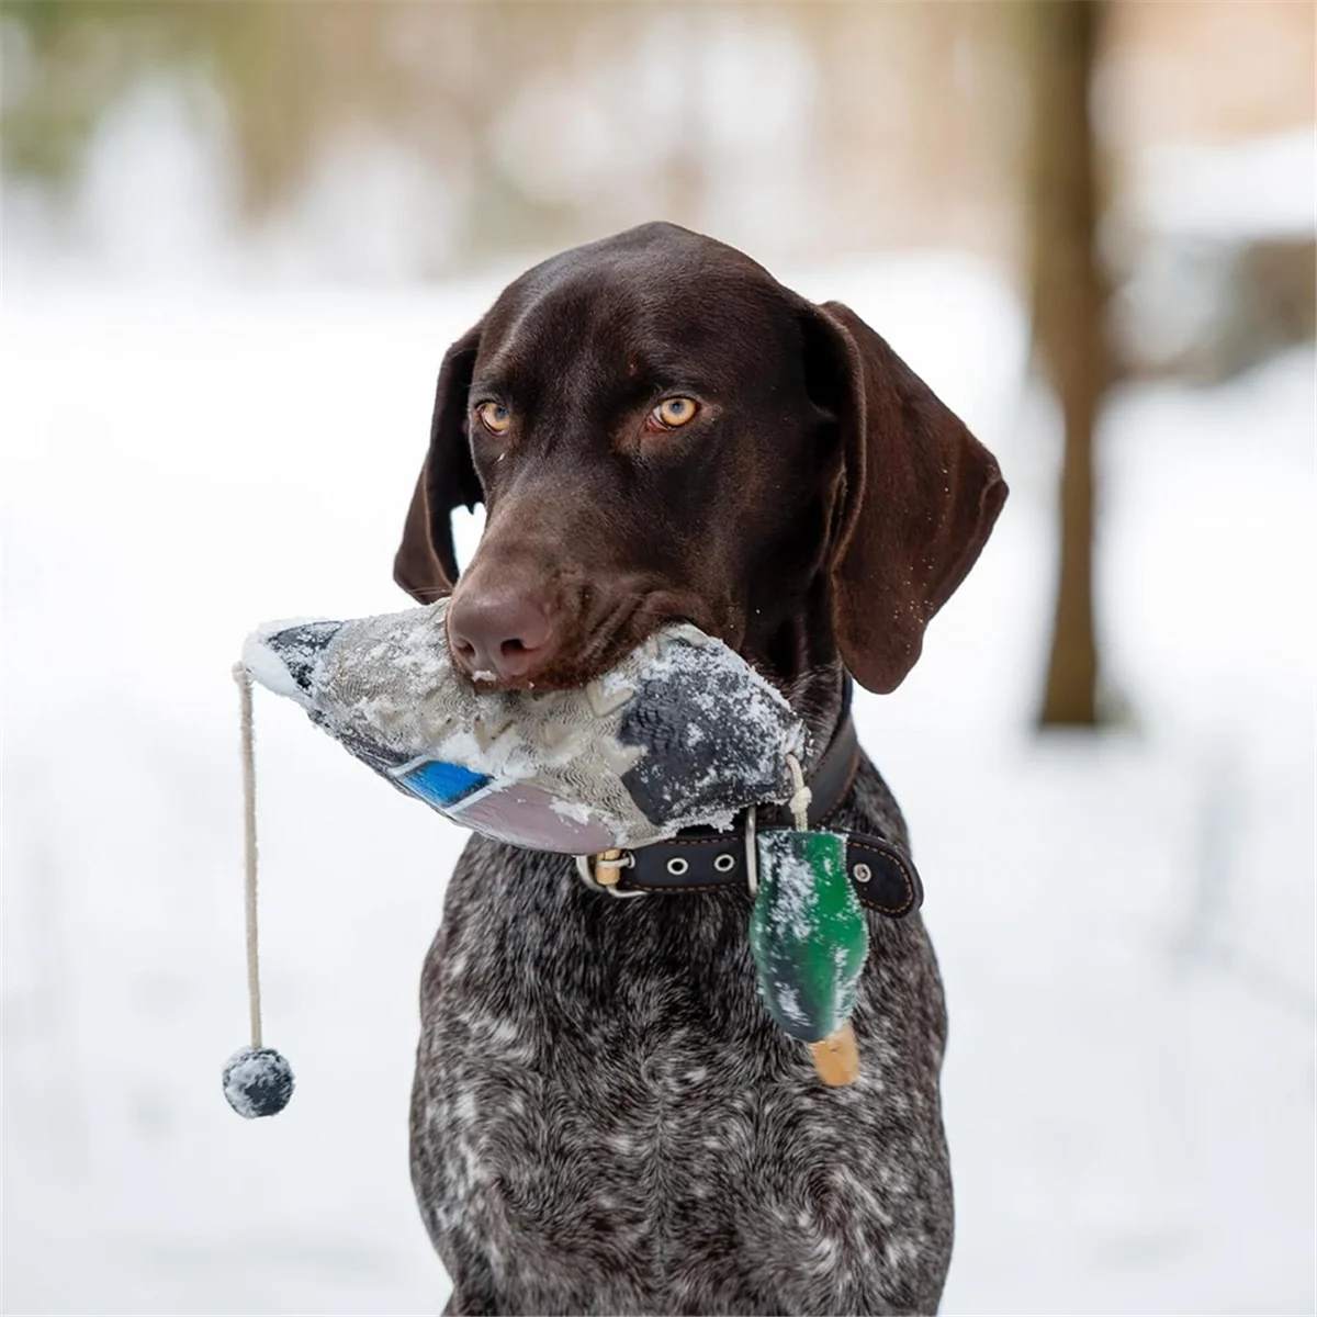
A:
<svg viewBox="0 0 1317 1317">
<path fill-rule="evenodd" d="M 992 453 L 849 307 L 813 308 L 806 367 L 842 431 L 832 630 L 851 674 L 890 691 L 975 565 L 1006 482 Z"/>
</svg>

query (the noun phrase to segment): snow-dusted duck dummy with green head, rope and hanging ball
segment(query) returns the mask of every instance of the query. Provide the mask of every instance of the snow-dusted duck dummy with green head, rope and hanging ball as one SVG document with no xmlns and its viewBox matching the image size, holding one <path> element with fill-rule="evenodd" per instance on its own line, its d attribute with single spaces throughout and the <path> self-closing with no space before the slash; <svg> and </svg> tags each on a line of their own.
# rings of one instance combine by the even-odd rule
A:
<svg viewBox="0 0 1317 1317">
<path fill-rule="evenodd" d="M 404 794 L 495 840 L 577 856 L 582 877 L 606 886 L 636 848 L 693 826 L 731 828 L 744 811 L 752 823 L 755 806 L 788 805 L 795 828 L 747 839 L 760 989 L 773 1019 L 813 1044 L 826 1083 L 853 1080 L 848 1017 L 868 934 L 847 839 L 809 830 L 807 735 L 786 701 L 689 624 L 656 632 L 577 690 L 482 691 L 453 670 L 446 607 L 443 599 L 352 622 L 271 623 L 244 645 L 234 677 L 253 1040 L 225 1065 L 234 1110 L 270 1115 L 292 1093 L 287 1062 L 261 1040 L 253 681 L 294 699 Z"/>
</svg>

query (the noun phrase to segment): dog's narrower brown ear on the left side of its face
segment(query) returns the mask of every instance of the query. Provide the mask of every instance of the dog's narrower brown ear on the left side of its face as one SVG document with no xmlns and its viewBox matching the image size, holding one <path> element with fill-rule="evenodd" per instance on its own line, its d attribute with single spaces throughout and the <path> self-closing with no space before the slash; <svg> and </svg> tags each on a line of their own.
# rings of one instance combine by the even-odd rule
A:
<svg viewBox="0 0 1317 1317">
<path fill-rule="evenodd" d="M 457 582 L 457 553 L 449 514 L 471 510 L 483 499 L 471 464 L 466 429 L 471 370 L 481 345 L 481 327 L 469 329 L 444 354 L 435 390 L 429 452 L 420 469 L 403 541 L 394 556 L 394 579 L 419 603 L 433 603 Z"/>
</svg>

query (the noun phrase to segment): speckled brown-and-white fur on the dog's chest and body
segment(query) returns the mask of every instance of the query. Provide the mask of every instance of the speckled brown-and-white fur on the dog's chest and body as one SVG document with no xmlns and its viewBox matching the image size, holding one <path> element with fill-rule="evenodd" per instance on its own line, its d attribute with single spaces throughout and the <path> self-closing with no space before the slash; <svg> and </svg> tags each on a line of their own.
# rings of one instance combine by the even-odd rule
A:
<svg viewBox="0 0 1317 1317">
<path fill-rule="evenodd" d="M 792 695 L 817 727 L 835 707 L 818 682 Z M 906 840 L 867 760 L 830 822 Z M 828 1089 L 757 996 L 749 910 L 739 890 L 619 901 L 570 859 L 468 844 L 412 1098 L 448 1317 L 936 1309 L 946 1010 L 923 923 L 869 914 L 863 1071 Z"/>
</svg>

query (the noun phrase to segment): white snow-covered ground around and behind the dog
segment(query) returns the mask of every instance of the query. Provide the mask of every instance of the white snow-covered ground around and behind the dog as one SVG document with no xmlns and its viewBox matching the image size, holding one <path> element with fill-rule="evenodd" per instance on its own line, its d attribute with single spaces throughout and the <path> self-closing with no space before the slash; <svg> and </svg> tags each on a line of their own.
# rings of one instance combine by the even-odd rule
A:
<svg viewBox="0 0 1317 1317">
<path fill-rule="evenodd" d="M 1115 400 L 1127 726 L 1040 741 L 1058 453 L 1014 302 L 946 255 L 795 282 L 892 337 L 1014 490 L 914 676 L 859 707 L 951 1004 L 944 1310 L 1313 1312 L 1312 354 Z M 7 1313 L 443 1304 L 406 1109 L 461 835 L 258 695 L 267 1036 L 299 1092 L 234 1118 L 228 668 L 262 619 L 402 602 L 435 370 L 487 292 L 7 292 Z"/>
</svg>

